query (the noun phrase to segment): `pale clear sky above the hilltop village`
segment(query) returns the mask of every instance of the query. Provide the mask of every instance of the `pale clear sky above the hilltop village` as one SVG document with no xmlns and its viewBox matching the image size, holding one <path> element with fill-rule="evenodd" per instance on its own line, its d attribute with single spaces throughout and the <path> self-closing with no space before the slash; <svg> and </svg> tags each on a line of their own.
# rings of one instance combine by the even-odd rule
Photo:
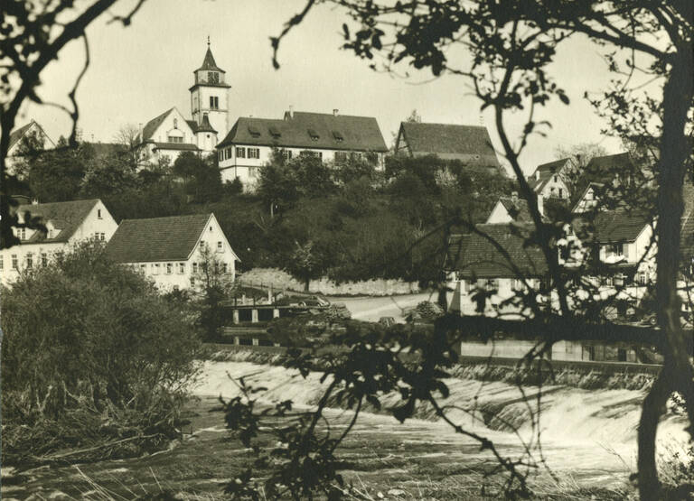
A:
<svg viewBox="0 0 694 501">
<path fill-rule="evenodd" d="M 135 0 L 121 0 L 110 14 L 125 14 Z M 369 69 L 369 61 L 342 51 L 343 11 L 319 5 L 282 42 L 281 67 L 272 67 L 269 37 L 301 10 L 304 0 L 147 0 L 133 23 L 124 27 L 102 16 L 88 30 L 90 65 L 77 93 L 79 127 L 87 140 L 109 142 L 123 125 L 138 125 L 177 107 L 191 116 L 192 71 L 200 67 L 207 37 L 230 83 L 231 124 L 238 116 L 281 118 L 296 111 L 375 116 L 391 144 L 399 122 L 413 109 L 423 122 L 485 125 L 492 144 L 491 110 L 480 112 L 464 78 L 434 79 L 429 70 L 409 70 L 409 77 Z M 452 54 L 453 56 L 453 54 Z M 464 57 L 464 54 L 456 54 Z M 453 57 L 455 57 L 453 56 Z M 45 102 L 70 107 L 67 94 L 85 59 L 82 42 L 71 42 L 42 75 L 38 94 Z M 583 98 L 606 88 L 609 74 L 595 45 L 570 41 L 551 66 L 571 104 L 556 102 L 542 110 L 552 124 L 547 138 L 536 136 L 521 155 L 524 171 L 557 158 L 559 146 L 599 143 L 619 153 L 620 143 L 600 134 L 605 126 Z M 539 117 L 540 118 L 540 117 Z M 70 118 L 56 107 L 29 104 L 17 126 L 35 119 L 54 140 L 69 135 Z M 521 116 L 511 117 L 511 133 Z M 220 138 L 221 139 L 221 138 Z"/>
</svg>

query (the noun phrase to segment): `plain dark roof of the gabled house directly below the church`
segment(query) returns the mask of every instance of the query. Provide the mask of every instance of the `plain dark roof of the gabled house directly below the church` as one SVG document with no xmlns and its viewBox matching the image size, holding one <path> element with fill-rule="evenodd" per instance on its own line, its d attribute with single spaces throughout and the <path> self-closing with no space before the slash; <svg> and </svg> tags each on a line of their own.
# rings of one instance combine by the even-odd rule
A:
<svg viewBox="0 0 694 501">
<path fill-rule="evenodd" d="M 191 255 L 210 218 L 211 213 L 124 219 L 106 251 L 117 263 L 183 261 Z"/>
</svg>

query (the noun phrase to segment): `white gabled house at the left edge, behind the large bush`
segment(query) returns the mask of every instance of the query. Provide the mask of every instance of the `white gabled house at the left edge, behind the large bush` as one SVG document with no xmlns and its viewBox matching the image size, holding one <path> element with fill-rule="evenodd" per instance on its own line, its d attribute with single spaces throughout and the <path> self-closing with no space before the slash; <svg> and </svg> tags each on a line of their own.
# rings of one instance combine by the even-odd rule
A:
<svg viewBox="0 0 694 501">
<path fill-rule="evenodd" d="M 20 223 L 27 216 L 41 217 L 47 232 L 14 228 L 20 244 L 0 250 L 3 285 L 13 283 L 24 269 L 45 266 L 52 256 L 68 252 L 80 241 L 108 242 L 118 226 L 99 199 L 20 205 L 17 214 Z"/>
</svg>

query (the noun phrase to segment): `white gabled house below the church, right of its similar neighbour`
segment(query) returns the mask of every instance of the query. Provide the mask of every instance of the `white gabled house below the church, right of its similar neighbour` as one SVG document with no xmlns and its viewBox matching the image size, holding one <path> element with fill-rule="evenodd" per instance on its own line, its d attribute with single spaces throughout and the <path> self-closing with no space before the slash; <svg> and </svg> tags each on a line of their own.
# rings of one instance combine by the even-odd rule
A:
<svg viewBox="0 0 694 501">
<path fill-rule="evenodd" d="M 106 247 L 107 255 L 154 281 L 160 291 L 189 289 L 205 266 L 232 281 L 236 261 L 214 214 L 124 219 Z"/>
</svg>

